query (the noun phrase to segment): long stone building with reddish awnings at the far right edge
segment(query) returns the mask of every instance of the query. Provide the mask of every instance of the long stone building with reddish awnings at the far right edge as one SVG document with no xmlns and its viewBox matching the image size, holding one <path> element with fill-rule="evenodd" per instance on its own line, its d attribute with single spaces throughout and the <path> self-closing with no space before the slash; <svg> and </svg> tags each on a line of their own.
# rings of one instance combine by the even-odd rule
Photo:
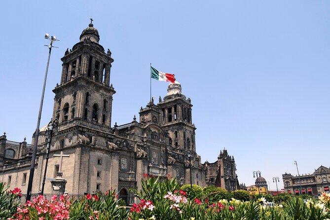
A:
<svg viewBox="0 0 330 220">
<path fill-rule="evenodd" d="M 319 196 L 322 192 L 329 192 L 330 168 L 320 166 L 312 174 L 293 176 L 282 174 L 286 192 L 299 195 L 309 194 Z"/>
</svg>

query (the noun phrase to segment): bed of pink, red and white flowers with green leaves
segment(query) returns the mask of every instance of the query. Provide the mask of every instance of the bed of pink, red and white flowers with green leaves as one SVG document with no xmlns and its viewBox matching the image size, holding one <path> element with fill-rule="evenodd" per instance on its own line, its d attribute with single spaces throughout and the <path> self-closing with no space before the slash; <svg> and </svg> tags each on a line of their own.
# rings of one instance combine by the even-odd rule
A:
<svg viewBox="0 0 330 220">
<path fill-rule="evenodd" d="M 1 188 L 2 187 L 2 188 Z M 187 190 L 183 190 L 183 189 Z M 319 200 L 304 201 L 298 196 L 286 202 L 268 206 L 265 198 L 247 200 L 240 195 L 219 199 L 214 192 L 198 191 L 198 198 L 189 197 L 188 187 L 181 189 L 175 179 L 160 181 L 145 176 L 142 189 L 135 190 L 139 203 L 130 210 L 118 206 L 114 190 L 106 193 L 88 194 L 80 199 L 69 200 L 67 196 L 53 196 L 50 200 L 38 196 L 25 205 L 16 199 L 20 190 L 6 192 L 0 183 L 0 217 L 8 220 L 329 220 L 330 194 L 323 193 Z M 228 193 L 223 193 L 228 196 Z M 191 192 L 192 194 L 192 192 Z"/>
</svg>

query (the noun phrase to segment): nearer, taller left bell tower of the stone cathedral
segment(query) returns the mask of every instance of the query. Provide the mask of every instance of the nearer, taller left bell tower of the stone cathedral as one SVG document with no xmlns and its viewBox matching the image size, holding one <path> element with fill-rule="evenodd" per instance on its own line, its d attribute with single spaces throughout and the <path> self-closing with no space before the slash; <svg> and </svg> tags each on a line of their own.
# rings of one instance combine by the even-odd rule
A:
<svg viewBox="0 0 330 220">
<path fill-rule="evenodd" d="M 82 31 L 80 41 L 65 52 L 61 83 L 56 85 L 53 118 L 61 129 L 71 125 L 108 131 L 111 126 L 112 95 L 110 69 L 113 59 L 108 49 L 99 44 L 99 32 L 89 26 Z M 74 123 L 73 123 L 74 122 Z M 107 127 L 107 128 L 106 128 Z"/>
</svg>

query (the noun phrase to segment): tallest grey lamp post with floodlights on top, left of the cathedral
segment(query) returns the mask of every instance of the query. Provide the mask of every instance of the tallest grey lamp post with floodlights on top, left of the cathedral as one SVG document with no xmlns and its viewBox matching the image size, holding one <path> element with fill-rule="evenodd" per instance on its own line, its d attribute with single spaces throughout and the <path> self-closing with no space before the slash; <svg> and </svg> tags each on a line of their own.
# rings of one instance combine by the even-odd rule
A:
<svg viewBox="0 0 330 220">
<path fill-rule="evenodd" d="M 41 92 L 41 100 L 40 100 L 39 114 L 38 114 L 38 120 L 37 120 L 37 128 L 36 128 L 36 133 L 35 133 L 35 143 L 34 143 L 34 148 L 33 148 L 33 153 L 32 153 L 32 159 L 31 159 L 31 167 L 30 167 L 28 191 L 26 193 L 26 201 L 30 201 L 30 199 L 31 199 L 32 182 L 33 182 L 33 176 L 35 174 L 35 166 L 36 166 L 36 156 L 37 156 L 37 145 L 38 145 L 38 136 L 39 136 L 41 111 L 42 111 L 42 105 L 43 105 L 43 97 L 44 97 L 44 94 L 45 94 L 45 87 L 46 87 L 48 66 L 49 66 L 49 60 L 50 60 L 50 53 L 51 53 L 52 47 L 54 47 L 53 46 L 53 42 L 57 40 L 55 36 L 51 36 L 49 38 L 49 35 L 48 34 L 45 34 L 45 39 L 49 39 L 50 40 L 50 44 L 49 45 L 45 45 L 45 46 L 48 46 L 49 53 L 48 53 L 48 60 L 47 60 L 46 72 L 45 72 L 45 77 L 44 77 L 44 80 L 43 80 L 43 87 L 42 87 L 42 92 Z"/>
</svg>

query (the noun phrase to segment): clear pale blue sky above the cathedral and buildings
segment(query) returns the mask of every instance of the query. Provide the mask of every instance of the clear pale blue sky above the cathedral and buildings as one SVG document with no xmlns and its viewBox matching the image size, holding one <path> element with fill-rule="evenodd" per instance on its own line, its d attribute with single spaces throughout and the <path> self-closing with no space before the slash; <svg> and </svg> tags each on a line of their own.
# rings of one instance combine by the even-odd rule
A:
<svg viewBox="0 0 330 220">
<path fill-rule="evenodd" d="M 241 183 L 261 171 L 313 173 L 329 167 L 330 1 L 5 1 L 1 4 L 0 132 L 31 142 L 48 41 L 55 35 L 41 126 L 52 116 L 61 60 L 89 18 L 114 62 L 112 123 L 149 100 L 149 66 L 175 73 L 193 104 L 196 147 L 214 162 L 224 147 Z M 152 81 L 152 96 L 167 83 Z M 158 99 L 156 99 L 158 100 Z M 279 187 L 283 187 L 282 178 Z"/>
</svg>

